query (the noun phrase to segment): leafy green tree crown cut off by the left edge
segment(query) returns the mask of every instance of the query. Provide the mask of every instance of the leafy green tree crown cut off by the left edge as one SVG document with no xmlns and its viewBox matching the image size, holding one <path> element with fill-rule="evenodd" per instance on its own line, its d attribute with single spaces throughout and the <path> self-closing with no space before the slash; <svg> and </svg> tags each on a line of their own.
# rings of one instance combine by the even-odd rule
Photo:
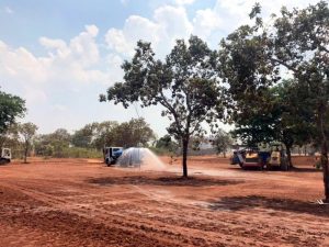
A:
<svg viewBox="0 0 329 247">
<path fill-rule="evenodd" d="M 25 101 L 20 97 L 0 91 L 0 134 L 5 134 L 15 119 L 25 113 Z"/>
</svg>

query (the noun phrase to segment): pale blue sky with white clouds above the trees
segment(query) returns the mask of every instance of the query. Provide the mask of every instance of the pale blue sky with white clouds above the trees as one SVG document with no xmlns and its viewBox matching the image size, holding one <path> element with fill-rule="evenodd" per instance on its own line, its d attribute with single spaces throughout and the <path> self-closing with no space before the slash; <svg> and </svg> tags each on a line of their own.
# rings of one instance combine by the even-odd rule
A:
<svg viewBox="0 0 329 247">
<path fill-rule="evenodd" d="M 124 109 L 99 102 L 122 81 L 121 65 L 137 41 L 163 58 L 177 38 L 197 35 L 212 48 L 248 23 L 253 0 L 0 0 L 0 87 L 26 100 L 39 133 L 69 132 L 92 122 L 145 117 L 158 136 L 169 121 L 160 106 Z M 258 0 L 263 15 L 314 0 Z M 230 126 L 223 125 L 225 130 Z"/>
</svg>

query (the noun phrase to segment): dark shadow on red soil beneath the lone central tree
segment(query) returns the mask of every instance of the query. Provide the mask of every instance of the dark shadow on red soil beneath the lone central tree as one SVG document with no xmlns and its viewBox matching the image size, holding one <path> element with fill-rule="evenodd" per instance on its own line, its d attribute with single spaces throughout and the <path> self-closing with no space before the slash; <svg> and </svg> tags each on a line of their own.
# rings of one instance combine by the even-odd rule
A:
<svg viewBox="0 0 329 247">
<path fill-rule="evenodd" d="M 238 184 L 243 181 L 224 180 L 214 178 L 197 178 L 197 177 L 145 177 L 145 176 L 129 176 L 129 177 L 107 177 L 94 178 L 88 180 L 90 183 L 100 186 L 114 184 L 147 184 L 147 186 L 174 186 L 174 187 L 207 187 L 207 186 L 229 186 Z"/>
</svg>

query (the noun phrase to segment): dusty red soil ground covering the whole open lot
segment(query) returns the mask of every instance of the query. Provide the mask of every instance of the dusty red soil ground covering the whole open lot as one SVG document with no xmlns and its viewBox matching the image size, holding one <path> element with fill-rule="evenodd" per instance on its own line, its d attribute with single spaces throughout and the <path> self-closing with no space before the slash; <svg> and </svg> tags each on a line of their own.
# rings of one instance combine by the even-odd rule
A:
<svg viewBox="0 0 329 247">
<path fill-rule="evenodd" d="M 0 246 L 329 246 L 321 172 L 240 170 L 217 157 L 166 171 L 49 159 L 0 167 Z M 168 157 L 162 160 L 169 162 Z"/>
</svg>

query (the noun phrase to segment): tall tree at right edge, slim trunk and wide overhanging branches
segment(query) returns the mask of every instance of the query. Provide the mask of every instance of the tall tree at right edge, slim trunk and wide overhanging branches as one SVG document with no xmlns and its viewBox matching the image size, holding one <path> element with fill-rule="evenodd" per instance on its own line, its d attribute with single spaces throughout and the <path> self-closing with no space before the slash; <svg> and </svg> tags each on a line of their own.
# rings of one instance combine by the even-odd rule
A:
<svg viewBox="0 0 329 247">
<path fill-rule="evenodd" d="M 321 164 L 326 201 L 329 202 L 328 128 L 329 114 L 329 9 L 320 1 L 306 9 L 288 11 L 282 8 L 273 25 L 263 26 L 257 4 L 250 16 L 253 26 L 245 25 L 222 42 L 220 75 L 229 83 L 229 106 L 234 115 L 246 114 L 254 103 L 268 108 L 265 89 L 277 82 L 280 71 L 290 70 L 311 108 L 321 145 Z M 281 72 L 283 74 L 283 72 Z M 248 102 L 248 104 L 246 104 Z"/>
</svg>

